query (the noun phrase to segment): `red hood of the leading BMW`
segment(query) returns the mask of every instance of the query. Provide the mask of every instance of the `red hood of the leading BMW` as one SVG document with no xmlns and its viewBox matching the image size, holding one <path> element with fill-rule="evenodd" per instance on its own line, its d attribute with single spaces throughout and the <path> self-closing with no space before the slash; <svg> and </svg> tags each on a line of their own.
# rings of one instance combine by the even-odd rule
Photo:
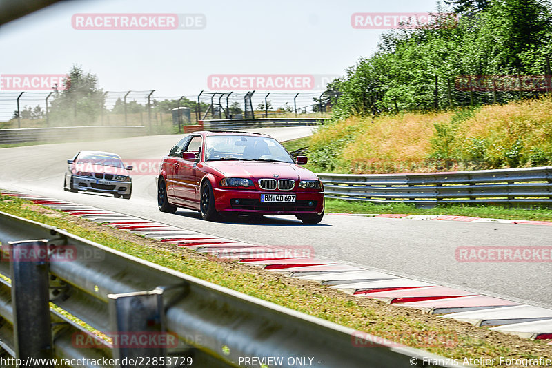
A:
<svg viewBox="0 0 552 368">
<path fill-rule="evenodd" d="M 225 177 L 246 177 L 260 179 L 274 177 L 278 179 L 316 180 L 317 176 L 310 170 L 296 164 L 287 162 L 244 162 L 244 161 L 212 161 L 206 162 L 206 166 L 214 168 Z"/>
</svg>

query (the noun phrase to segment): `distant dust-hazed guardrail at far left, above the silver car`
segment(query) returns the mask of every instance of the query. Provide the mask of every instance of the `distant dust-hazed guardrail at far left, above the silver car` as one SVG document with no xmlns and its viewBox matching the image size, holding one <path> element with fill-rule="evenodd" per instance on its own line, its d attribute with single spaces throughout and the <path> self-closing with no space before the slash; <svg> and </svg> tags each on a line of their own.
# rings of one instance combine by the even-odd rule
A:
<svg viewBox="0 0 552 368">
<path fill-rule="evenodd" d="M 0 129 L 0 144 L 59 142 L 68 139 L 107 139 L 145 135 L 144 126 L 62 126 L 52 128 Z"/>
</svg>

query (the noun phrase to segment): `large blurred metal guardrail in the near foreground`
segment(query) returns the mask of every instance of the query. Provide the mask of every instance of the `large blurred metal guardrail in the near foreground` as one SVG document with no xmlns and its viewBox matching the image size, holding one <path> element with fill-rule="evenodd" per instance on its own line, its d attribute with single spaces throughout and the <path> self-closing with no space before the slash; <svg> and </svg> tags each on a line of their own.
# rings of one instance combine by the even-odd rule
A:
<svg viewBox="0 0 552 368">
<path fill-rule="evenodd" d="M 22 360 L 117 358 L 115 366 L 127 367 L 120 364 L 125 358 L 164 356 L 191 359 L 193 367 L 258 367 L 243 357 L 276 356 L 284 357 L 278 367 L 299 367 L 287 358 L 310 356 L 313 366 L 328 368 L 411 367 L 413 358 L 454 367 L 379 338 L 358 346 L 353 329 L 1 212 L 0 240 L 9 242 L 10 254 L 0 273 L 11 280 L 0 279 L 0 347 Z M 172 333 L 178 344 L 144 349 L 114 340 L 80 347 L 86 330 L 48 302 L 103 333 Z"/>
</svg>

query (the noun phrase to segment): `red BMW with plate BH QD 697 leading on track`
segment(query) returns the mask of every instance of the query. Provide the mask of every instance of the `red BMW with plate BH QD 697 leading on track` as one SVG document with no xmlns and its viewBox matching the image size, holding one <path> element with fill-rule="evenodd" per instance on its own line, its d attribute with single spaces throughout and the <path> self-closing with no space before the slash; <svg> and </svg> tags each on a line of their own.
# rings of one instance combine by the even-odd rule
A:
<svg viewBox="0 0 552 368">
<path fill-rule="evenodd" d="M 295 215 L 304 224 L 324 216 L 324 187 L 318 177 L 269 135 L 196 132 L 163 158 L 157 177 L 162 212 L 178 207 L 219 215 Z"/>
</svg>

